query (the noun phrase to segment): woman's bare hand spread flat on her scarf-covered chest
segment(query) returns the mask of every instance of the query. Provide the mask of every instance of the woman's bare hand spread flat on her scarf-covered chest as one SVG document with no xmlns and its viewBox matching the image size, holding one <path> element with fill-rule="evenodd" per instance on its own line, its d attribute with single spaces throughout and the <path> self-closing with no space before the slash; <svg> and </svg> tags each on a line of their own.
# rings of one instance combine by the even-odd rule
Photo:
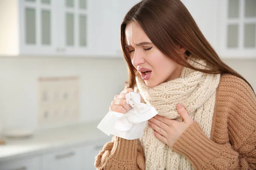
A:
<svg viewBox="0 0 256 170">
<path fill-rule="evenodd" d="M 194 122 L 182 105 L 177 105 L 177 111 L 183 119 L 183 122 L 167 119 L 159 115 L 149 119 L 148 122 L 148 125 L 155 130 L 154 135 L 157 139 L 164 142 L 169 147 L 172 147 L 181 134 Z"/>
</svg>

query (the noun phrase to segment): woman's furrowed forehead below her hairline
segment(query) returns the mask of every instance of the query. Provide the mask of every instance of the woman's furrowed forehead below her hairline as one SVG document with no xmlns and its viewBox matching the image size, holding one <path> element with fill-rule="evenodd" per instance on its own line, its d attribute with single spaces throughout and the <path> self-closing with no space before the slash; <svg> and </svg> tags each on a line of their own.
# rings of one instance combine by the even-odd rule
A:
<svg viewBox="0 0 256 170">
<path fill-rule="evenodd" d="M 134 21 L 132 21 L 131 23 L 128 23 L 128 25 L 126 26 L 125 39 L 126 39 L 127 45 L 134 45 L 143 41 L 150 42 L 144 30 L 140 27 L 139 24 L 137 24 Z"/>
</svg>

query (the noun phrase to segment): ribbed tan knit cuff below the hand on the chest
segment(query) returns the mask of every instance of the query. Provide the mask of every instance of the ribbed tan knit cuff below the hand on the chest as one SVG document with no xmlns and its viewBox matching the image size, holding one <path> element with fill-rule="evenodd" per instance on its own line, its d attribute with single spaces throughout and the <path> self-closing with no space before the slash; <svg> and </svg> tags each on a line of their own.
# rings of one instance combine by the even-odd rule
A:
<svg viewBox="0 0 256 170">
<path fill-rule="evenodd" d="M 173 150 L 186 156 L 196 169 L 202 169 L 210 164 L 221 149 L 221 145 L 204 134 L 198 122 L 193 122 L 173 145 Z"/>
</svg>

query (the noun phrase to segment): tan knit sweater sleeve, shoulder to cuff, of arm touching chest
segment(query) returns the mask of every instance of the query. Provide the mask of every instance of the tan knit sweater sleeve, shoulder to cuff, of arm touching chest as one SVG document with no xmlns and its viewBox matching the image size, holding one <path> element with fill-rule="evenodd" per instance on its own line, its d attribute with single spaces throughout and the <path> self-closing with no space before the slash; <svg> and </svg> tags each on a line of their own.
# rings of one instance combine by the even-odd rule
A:
<svg viewBox="0 0 256 170">
<path fill-rule="evenodd" d="M 220 95 L 223 96 L 221 105 L 228 115 L 230 142 L 212 141 L 194 122 L 173 146 L 189 159 L 195 170 L 256 170 L 256 97 L 241 79 L 236 77 L 227 81 L 228 87 Z"/>
</svg>

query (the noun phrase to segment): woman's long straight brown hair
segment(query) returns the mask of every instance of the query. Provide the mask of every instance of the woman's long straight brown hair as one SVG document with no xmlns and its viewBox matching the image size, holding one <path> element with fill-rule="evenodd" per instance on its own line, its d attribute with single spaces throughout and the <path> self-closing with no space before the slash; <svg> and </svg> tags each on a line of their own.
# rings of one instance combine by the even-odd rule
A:
<svg viewBox="0 0 256 170">
<path fill-rule="evenodd" d="M 180 0 L 142 0 L 128 11 L 121 25 L 121 45 L 128 64 L 130 88 L 134 88 L 136 84 L 137 73 L 131 63 L 125 40 L 125 28 L 131 21 L 138 23 L 152 43 L 177 64 L 207 74 L 233 74 L 247 82 L 244 77 L 221 61 Z M 177 45 L 187 50 L 184 57 L 177 53 Z M 209 68 L 198 69 L 190 65 L 187 59 L 191 54 L 204 60 Z M 251 85 L 250 87 L 252 88 Z"/>
</svg>

